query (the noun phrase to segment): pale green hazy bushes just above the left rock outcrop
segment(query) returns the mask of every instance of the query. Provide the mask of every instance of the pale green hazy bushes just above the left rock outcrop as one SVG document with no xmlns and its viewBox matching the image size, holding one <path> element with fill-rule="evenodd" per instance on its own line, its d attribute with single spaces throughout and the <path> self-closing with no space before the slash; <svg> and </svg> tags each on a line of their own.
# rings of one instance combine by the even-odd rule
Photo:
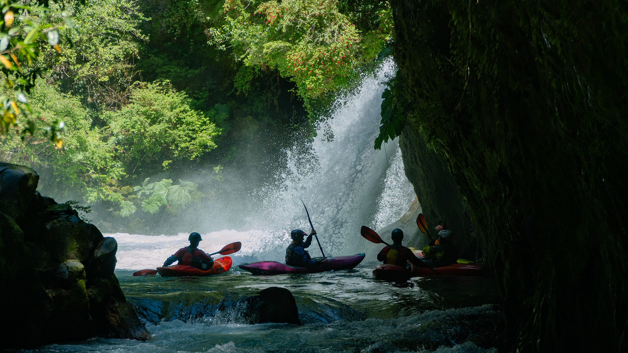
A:
<svg viewBox="0 0 628 353">
<path fill-rule="evenodd" d="M 5 160 L 33 166 L 40 171 L 50 171 L 52 180 L 42 180 L 50 192 L 60 195 L 68 190 L 84 192 L 89 202 L 119 199 L 111 192 L 111 181 L 122 178 L 124 166 L 116 160 L 116 139 L 109 128 L 92 128 L 93 111 L 69 94 L 56 87 L 37 82 L 31 91 L 31 106 L 40 112 L 38 121 L 48 125 L 65 121 L 63 149 L 46 143 L 44 131 L 35 131 L 22 141 L 12 134 L 0 145 Z"/>
</svg>

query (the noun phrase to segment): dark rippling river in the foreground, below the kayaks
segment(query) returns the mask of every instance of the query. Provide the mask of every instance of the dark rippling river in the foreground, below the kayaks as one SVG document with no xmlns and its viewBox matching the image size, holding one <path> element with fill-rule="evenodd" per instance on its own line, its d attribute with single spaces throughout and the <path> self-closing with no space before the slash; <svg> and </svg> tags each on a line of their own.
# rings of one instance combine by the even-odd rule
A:
<svg viewBox="0 0 628 353">
<path fill-rule="evenodd" d="M 28 352 L 487 352 L 501 313 L 490 277 L 442 276 L 389 283 L 372 265 L 316 274 L 254 276 L 239 269 L 203 278 L 133 277 L 122 289 L 153 335 L 149 342 L 91 339 Z M 269 286 L 295 296 L 301 326 L 231 323 L 221 301 Z M 487 334 L 490 332 L 492 334 Z M 484 347 L 481 347 L 485 345 Z"/>
</svg>

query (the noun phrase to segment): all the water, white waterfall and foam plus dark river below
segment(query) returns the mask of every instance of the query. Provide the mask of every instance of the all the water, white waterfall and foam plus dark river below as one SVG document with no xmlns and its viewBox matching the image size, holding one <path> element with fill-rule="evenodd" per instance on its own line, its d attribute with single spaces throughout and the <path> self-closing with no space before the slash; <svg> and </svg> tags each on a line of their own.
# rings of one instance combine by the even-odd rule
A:
<svg viewBox="0 0 628 353">
<path fill-rule="evenodd" d="M 397 141 L 372 148 L 379 131 L 382 82 L 394 73 L 384 62 L 358 92 L 338 99 L 317 137 L 284 151 L 274 178 L 246 188 L 246 205 L 220 205 L 197 219 L 207 253 L 241 241 L 234 268 L 206 278 L 133 277 L 156 268 L 187 245 L 188 232 L 171 236 L 106 234 L 118 242 L 116 275 L 153 335 L 148 342 L 95 338 L 23 352 L 494 352 L 503 324 L 501 299 L 490 276 L 439 276 L 404 283 L 374 280 L 381 246 L 359 235 L 398 220 L 414 199 Z M 237 178 L 232 178 L 237 180 Z M 245 190 L 232 185 L 231 190 Z M 254 276 L 239 263 L 283 261 L 291 229 L 310 229 L 308 205 L 327 256 L 366 253 L 352 270 Z M 246 215 L 241 214 L 246 210 Z M 237 220 L 234 221 L 234 219 Z M 414 232 L 407 229 L 406 232 Z M 386 234 L 382 234 L 386 239 Z M 311 256 L 320 256 L 317 246 Z M 237 320 L 235 301 L 270 286 L 295 296 L 301 325 Z"/>
</svg>

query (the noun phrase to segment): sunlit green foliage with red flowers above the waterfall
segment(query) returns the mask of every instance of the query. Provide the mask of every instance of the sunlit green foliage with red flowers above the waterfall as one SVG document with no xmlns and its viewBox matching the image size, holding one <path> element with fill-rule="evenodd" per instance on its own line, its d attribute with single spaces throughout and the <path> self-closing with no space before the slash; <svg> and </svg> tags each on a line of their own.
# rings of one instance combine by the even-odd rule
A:
<svg viewBox="0 0 628 353">
<path fill-rule="evenodd" d="M 389 39 L 390 16 L 381 10 L 382 24 L 375 36 L 365 37 L 331 0 L 227 0 L 222 28 L 210 28 L 210 42 L 229 46 L 242 60 L 236 88 L 247 85 L 261 71 L 276 70 L 296 83 L 305 99 L 335 92 L 361 63 L 374 58 Z"/>
</svg>

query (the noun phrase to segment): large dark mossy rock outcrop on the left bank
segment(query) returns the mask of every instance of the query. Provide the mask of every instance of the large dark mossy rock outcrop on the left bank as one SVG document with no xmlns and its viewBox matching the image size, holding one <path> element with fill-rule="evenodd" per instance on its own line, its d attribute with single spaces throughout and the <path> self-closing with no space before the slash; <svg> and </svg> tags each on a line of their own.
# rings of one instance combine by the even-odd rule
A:
<svg viewBox="0 0 628 353">
<path fill-rule="evenodd" d="M 92 336 L 150 338 L 114 274 L 117 242 L 35 191 L 36 171 L 0 163 L 0 347 Z"/>
</svg>

